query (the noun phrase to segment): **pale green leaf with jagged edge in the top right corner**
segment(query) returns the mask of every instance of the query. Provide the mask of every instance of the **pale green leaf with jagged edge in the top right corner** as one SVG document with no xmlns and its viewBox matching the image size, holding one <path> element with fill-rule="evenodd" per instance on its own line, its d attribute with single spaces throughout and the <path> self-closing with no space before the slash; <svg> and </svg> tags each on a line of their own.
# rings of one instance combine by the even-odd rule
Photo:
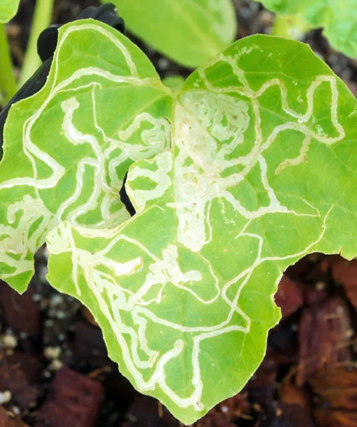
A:
<svg viewBox="0 0 357 427">
<path fill-rule="evenodd" d="M 298 14 L 312 27 L 324 27 L 331 46 L 357 58 L 356 0 L 259 0 L 277 14 Z"/>
</svg>

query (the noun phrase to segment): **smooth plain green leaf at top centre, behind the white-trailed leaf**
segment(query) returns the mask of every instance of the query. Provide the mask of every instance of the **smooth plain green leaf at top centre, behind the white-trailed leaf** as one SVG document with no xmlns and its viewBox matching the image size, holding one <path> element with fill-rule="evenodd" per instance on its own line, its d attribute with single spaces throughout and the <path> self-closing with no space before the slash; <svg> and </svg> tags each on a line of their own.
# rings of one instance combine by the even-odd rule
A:
<svg viewBox="0 0 357 427">
<path fill-rule="evenodd" d="M 189 68 L 196 68 L 223 51 L 237 33 L 231 0 L 112 0 L 112 3 L 132 33 Z"/>
</svg>

